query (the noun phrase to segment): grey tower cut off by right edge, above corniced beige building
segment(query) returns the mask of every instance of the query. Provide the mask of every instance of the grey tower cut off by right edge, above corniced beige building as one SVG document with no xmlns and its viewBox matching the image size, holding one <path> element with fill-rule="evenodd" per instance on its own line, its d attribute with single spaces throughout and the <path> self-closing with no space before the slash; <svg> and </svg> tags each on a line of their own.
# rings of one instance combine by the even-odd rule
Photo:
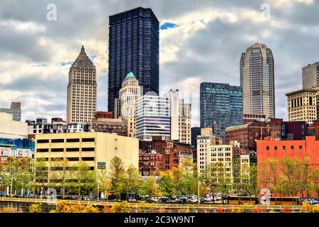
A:
<svg viewBox="0 0 319 227">
<path fill-rule="evenodd" d="M 319 87 L 319 62 L 303 67 L 303 89 Z"/>
</svg>

